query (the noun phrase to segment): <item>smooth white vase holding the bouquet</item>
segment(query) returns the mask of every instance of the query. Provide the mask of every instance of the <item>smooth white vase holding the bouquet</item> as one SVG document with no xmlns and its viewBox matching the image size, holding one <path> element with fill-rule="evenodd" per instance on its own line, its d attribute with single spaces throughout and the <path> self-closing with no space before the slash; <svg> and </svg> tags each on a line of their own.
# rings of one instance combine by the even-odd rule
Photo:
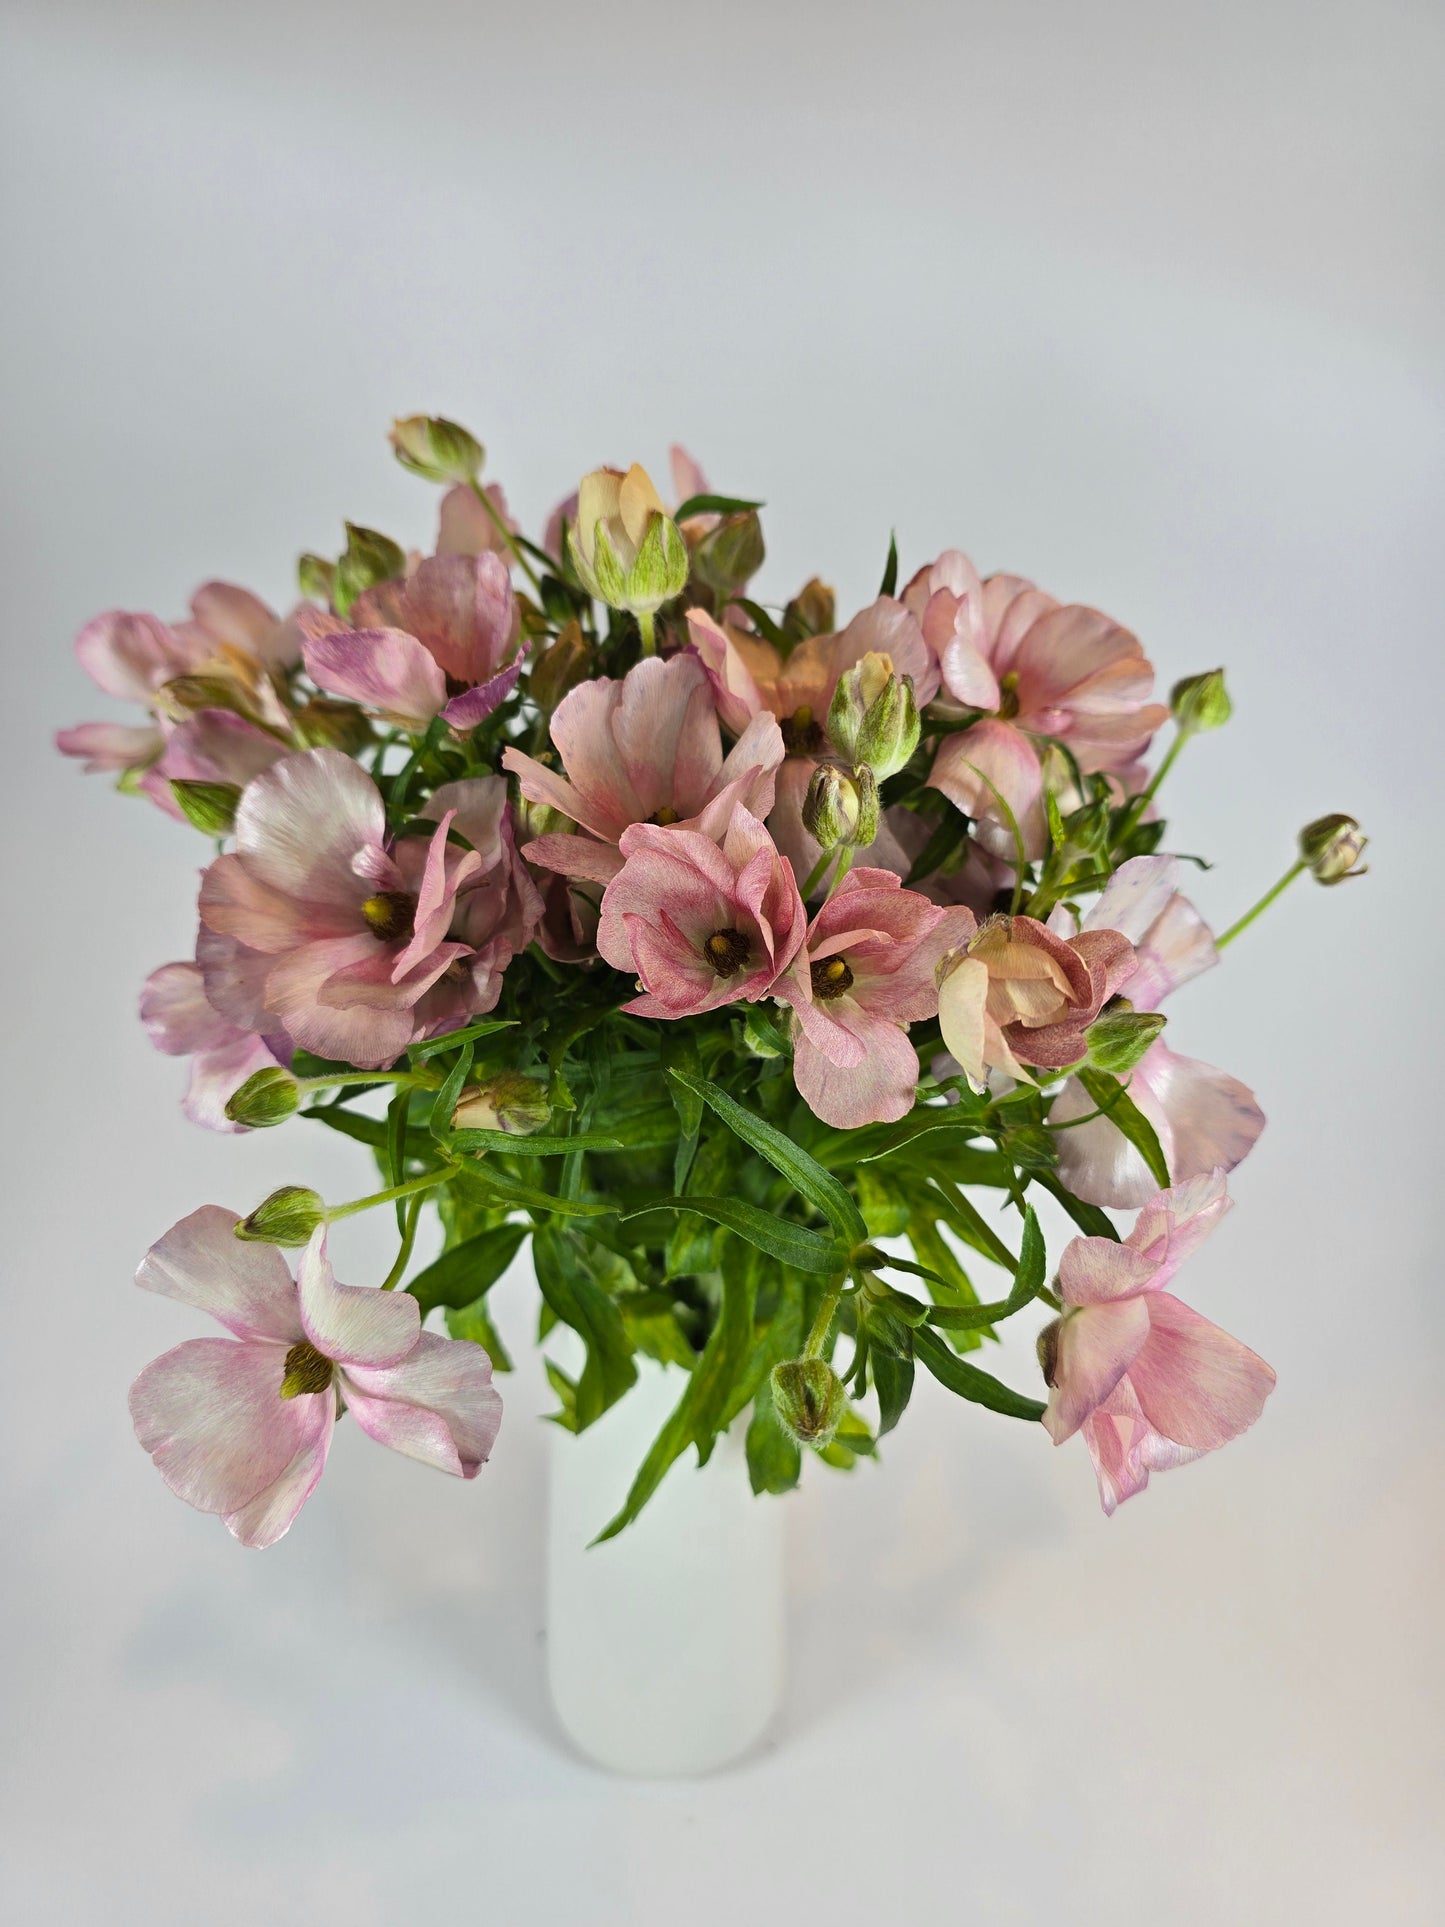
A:
<svg viewBox="0 0 1445 1927">
<path fill-rule="evenodd" d="M 638 1384 L 574 1438 L 553 1428 L 547 1684 L 572 1744 L 615 1773 L 709 1773 L 746 1754 L 782 1696 L 784 1503 L 753 1497 L 744 1412 L 692 1447 L 640 1518 L 622 1505 L 686 1378 L 638 1357 Z"/>
</svg>

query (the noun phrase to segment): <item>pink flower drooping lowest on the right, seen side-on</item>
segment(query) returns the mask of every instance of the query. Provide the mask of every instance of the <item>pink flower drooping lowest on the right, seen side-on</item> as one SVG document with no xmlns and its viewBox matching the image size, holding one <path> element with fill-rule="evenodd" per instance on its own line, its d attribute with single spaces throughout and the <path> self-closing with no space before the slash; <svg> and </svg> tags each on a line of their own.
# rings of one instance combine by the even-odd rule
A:
<svg viewBox="0 0 1445 1927">
<path fill-rule="evenodd" d="M 1223 1172 L 1160 1191 L 1119 1245 L 1075 1237 L 1060 1260 L 1064 1316 L 1040 1341 L 1056 1445 L 1083 1430 L 1112 1513 L 1148 1484 L 1239 1438 L 1274 1372 L 1164 1289 L 1229 1208 Z"/>
</svg>

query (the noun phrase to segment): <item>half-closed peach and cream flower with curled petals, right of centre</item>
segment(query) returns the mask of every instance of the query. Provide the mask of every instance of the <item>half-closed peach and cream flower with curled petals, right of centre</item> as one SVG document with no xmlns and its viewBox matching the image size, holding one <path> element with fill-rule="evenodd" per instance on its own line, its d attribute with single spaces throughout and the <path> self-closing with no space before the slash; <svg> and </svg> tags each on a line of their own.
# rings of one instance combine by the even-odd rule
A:
<svg viewBox="0 0 1445 1927">
<path fill-rule="evenodd" d="M 988 917 L 940 965 L 938 1023 L 969 1083 L 988 1071 L 1027 1077 L 1027 1066 L 1064 1069 L 1087 1054 L 1085 1029 L 1135 967 L 1119 931 L 1064 938 L 1037 917 Z"/>
</svg>

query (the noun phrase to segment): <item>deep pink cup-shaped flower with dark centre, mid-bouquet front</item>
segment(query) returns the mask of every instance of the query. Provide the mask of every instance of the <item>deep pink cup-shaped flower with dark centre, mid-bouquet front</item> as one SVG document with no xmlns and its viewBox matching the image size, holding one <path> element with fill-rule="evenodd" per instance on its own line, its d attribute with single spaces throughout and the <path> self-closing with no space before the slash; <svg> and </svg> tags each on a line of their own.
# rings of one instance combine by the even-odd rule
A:
<svg viewBox="0 0 1445 1927">
<path fill-rule="evenodd" d="M 807 913 L 792 865 L 738 805 L 721 838 L 672 825 L 622 831 L 622 869 L 607 884 L 597 948 L 642 979 L 624 1010 L 692 1017 L 767 996 L 798 956 Z"/>
</svg>

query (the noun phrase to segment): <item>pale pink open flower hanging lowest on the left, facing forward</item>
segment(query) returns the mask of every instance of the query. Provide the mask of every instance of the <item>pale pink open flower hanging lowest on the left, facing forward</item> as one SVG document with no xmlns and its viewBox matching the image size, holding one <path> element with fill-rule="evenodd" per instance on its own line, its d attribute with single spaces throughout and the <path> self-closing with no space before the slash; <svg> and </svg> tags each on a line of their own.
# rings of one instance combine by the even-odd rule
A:
<svg viewBox="0 0 1445 1927">
<path fill-rule="evenodd" d="M 341 1409 L 378 1443 L 476 1478 L 501 1424 L 482 1347 L 422 1332 L 407 1291 L 339 1285 L 324 1227 L 293 1281 L 281 1253 L 243 1243 L 235 1224 L 202 1204 L 135 1274 L 233 1333 L 177 1345 L 131 1386 L 135 1436 L 171 1491 L 243 1545 L 274 1545 L 316 1490 Z"/>
</svg>

